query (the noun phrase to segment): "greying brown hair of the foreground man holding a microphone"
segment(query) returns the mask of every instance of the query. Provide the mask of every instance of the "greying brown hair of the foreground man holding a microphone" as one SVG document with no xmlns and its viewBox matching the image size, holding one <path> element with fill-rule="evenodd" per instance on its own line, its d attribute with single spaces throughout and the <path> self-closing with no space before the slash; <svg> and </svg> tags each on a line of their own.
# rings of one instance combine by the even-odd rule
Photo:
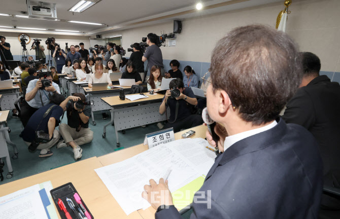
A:
<svg viewBox="0 0 340 219">
<path fill-rule="evenodd" d="M 301 59 L 284 32 L 263 25 L 238 27 L 211 57 L 213 92 L 224 90 L 239 117 L 253 125 L 277 118 L 301 79 Z"/>
</svg>

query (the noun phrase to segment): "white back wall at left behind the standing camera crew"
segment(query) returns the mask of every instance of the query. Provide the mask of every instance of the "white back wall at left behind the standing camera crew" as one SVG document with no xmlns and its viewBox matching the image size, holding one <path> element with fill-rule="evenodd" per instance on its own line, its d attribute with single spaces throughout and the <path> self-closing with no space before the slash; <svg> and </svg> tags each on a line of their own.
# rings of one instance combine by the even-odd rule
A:
<svg viewBox="0 0 340 219">
<path fill-rule="evenodd" d="M 25 32 L 23 32 L 25 33 Z M 33 43 L 33 39 L 40 39 L 41 44 L 45 46 L 45 55 L 47 55 L 46 50 L 46 44 L 45 41 L 47 38 L 54 37 L 55 42 L 60 44 L 61 49 L 65 49 L 65 43 L 69 43 L 69 48 L 71 45 L 79 45 L 79 43 L 84 43 L 85 48 L 90 47 L 90 40 L 88 36 L 72 36 L 72 35 L 53 35 L 53 34 L 37 34 L 37 33 L 25 33 L 27 34 L 31 41 L 29 44 L 26 45 L 26 48 L 28 50 L 29 55 L 36 55 L 34 50 L 30 50 L 31 45 Z M 11 32 L 0 32 L 0 35 L 4 35 L 6 37 L 6 42 L 11 44 L 11 52 L 14 56 L 14 59 L 16 59 L 16 56 L 19 56 L 22 50 L 22 47 L 20 45 L 18 36 L 21 35 L 21 33 L 11 33 Z"/>
</svg>

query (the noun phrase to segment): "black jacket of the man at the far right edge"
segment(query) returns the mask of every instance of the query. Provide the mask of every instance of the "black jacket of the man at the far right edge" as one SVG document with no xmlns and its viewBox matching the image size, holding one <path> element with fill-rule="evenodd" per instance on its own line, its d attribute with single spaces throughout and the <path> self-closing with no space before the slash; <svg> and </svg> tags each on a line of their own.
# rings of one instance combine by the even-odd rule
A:
<svg viewBox="0 0 340 219">
<path fill-rule="evenodd" d="M 325 184 L 340 187 L 340 85 L 324 75 L 313 79 L 297 90 L 282 118 L 313 134 L 319 143 Z"/>
</svg>

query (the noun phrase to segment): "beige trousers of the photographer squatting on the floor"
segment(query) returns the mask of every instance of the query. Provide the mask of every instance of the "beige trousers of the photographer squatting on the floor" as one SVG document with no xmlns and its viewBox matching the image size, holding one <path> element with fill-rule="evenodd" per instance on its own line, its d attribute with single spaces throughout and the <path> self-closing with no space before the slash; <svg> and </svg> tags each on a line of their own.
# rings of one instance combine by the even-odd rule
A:
<svg viewBox="0 0 340 219">
<path fill-rule="evenodd" d="M 65 143 L 74 141 L 78 146 L 89 143 L 93 140 L 93 131 L 90 128 L 81 128 L 79 132 L 65 123 L 59 125 L 59 132 Z"/>
</svg>

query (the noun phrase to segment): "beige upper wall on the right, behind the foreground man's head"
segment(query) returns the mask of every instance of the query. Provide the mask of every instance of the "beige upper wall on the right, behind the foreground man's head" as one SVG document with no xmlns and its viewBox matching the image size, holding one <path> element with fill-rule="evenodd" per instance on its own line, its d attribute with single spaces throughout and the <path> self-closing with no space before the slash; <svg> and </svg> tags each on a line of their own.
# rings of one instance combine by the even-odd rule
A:
<svg viewBox="0 0 340 219">
<path fill-rule="evenodd" d="M 182 33 L 177 34 L 176 47 L 161 47 L 163 59 L 210 62 L 217 41 L 232 28 L 247 24 L 266 24 L 275 27 L 283 3 L 235 10 L 182 22 Z M 339 0 L 293 1 L 289 10 L 287 33 L 298 43 L 301 51 L 317 54 L 323 71 L 340 71 L 340 9 Z M 149 32 L 173 31 L 173 22 L 114 31 L 103 34 L 122 34 L 125 50 L 134 42 L 141 42 Z M 127 53 L 126 56 L 130 56 Z"/>
</svg>

